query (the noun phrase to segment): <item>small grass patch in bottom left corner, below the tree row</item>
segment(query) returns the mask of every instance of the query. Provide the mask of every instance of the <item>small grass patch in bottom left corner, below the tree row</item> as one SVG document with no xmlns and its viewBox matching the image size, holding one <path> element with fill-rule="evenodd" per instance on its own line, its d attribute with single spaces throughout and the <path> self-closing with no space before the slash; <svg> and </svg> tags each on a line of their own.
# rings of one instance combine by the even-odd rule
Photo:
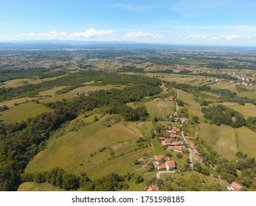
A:
<svg viewBox="0 0 256 206">
<path fill-rule="evenodd" d="M 36 183 L 36 182 L 24 182 L 18 187 L 18 191 L 65 191 L 48 182 Z"/>
</svg>

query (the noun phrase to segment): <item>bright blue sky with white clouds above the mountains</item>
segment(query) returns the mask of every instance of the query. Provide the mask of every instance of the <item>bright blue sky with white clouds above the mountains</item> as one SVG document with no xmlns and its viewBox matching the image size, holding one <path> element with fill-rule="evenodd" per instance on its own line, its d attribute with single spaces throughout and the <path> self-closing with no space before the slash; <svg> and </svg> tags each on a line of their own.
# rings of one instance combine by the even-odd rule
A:
<svg viewBox="0 0 256 206">
<path fill-rule="evenodd" d="M 0 0 L 0 41 L 256 46 L 256 0 Z"/>
</svg>

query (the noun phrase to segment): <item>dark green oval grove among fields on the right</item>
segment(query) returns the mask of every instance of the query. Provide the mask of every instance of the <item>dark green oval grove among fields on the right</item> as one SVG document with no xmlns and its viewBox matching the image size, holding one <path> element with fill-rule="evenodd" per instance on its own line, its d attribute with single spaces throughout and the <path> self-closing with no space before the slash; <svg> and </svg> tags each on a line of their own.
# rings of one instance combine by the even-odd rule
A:
<svg viewBox="0 0 256 206">
<path fill-rule="evenodd" d="M 226 124 L 238 128 L 246 125 L 246 119 L 241 113 L 221 104 L 212 107 L 202 107 L 201 112 L 204 113 L 204 118 L 210 119 L 212 124 L 217 124 L 218 126 Z"/>
</svg>

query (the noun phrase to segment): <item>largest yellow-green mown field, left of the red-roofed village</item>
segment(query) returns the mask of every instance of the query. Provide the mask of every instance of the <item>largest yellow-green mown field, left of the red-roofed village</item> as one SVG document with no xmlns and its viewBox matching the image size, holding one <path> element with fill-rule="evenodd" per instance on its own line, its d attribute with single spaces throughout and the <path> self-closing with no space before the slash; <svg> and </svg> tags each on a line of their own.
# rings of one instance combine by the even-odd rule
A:
<svg viewBox="0 0 256 206">
<path fill-rule="evenodd" d="M 147 150 L 129 151 L 134 149 L 132 146 L 136 138 L 138 137 L 128 129 L 105 127 L 97 121 L 50 141 L 47 149 L 38 153 L 29 163 L 26 171 L 47 171 L 58 166 L 75 174 L 84 171 L 90 178 L 100 177 L 111 171 L 136 172 L 132 163 Z M 120 144 L 125 141 L 131 142 Z M 106 149 L 99 152 L 104 146 Z M 118 151 L 121 148 L 122 152 Z M 111 157 L 111 151 L 114 152 L 114 157 Z M 130 153 L 124 154 L 125 152 Z"/>
</svg>

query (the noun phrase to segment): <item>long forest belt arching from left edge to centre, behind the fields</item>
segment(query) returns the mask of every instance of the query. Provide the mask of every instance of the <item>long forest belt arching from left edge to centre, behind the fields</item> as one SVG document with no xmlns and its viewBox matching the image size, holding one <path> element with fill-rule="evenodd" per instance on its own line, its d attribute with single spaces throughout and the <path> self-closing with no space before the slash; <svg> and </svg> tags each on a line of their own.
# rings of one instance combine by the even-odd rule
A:
<svg viewBox="0 0 256 206">
<path fill-rule="evenodd" d="M 5 101 L 13 97 L 35 96 L 40 91 L 51 88 L 66 86 L 61 93 L 66 93 L 74 88 L 83 87 L 84 82 L 96 82 L 94 85 L 161 85 L 159 79 L 141 77 L 138 75 L 107 73 L 103 71 L 79 71 L 68 74 L 51 81 L 41 82 L 35 85 L 24 85 L 17 88 L 0 88 L 0 101 Z M 151 93 L 151 90 L 148 91 Z"/>
</svg>

